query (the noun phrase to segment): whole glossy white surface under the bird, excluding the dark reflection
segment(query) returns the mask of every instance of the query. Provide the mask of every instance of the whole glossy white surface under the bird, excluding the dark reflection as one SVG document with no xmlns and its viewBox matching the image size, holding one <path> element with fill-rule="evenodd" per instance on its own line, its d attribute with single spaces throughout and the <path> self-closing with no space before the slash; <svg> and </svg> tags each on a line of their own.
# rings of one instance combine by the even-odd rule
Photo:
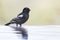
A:
<svg viewBox="0 0 60 40">
<path fill-rule="evenodd" d="M 23 26 L 28 31 L 28 40 L 60 40 L 60 26 Z M 0 40 L 23 40 L 13 28 L 0 26 Z"/>
</svg>

